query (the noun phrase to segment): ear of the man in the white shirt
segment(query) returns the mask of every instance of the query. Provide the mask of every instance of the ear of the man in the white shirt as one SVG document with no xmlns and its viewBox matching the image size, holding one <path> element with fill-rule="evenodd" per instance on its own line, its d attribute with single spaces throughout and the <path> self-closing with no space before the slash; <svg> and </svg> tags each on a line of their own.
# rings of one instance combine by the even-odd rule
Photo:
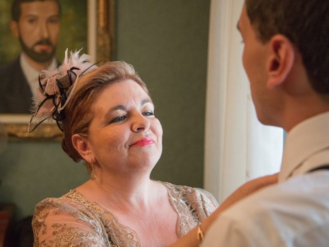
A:
<svg viewBox="0 0 329 247">
<path fill-rule="evenodd" d="M 276 34 L 270 39 L 269 49 L 267 87 L 272 89 L 283 83 L 289 75 L 295 61 L 295 49 L 282 34 Z"/>
</svg>

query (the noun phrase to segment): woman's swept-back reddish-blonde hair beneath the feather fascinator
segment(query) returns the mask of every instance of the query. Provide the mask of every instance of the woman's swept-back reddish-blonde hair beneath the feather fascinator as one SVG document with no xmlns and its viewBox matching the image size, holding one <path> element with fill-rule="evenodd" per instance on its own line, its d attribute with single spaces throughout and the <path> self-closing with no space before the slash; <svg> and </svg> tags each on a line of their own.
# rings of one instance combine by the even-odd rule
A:
<svg viewBox="0 0 329 247">
<path fill-rule="evenodd" d="M 149 94 L 147 86 L 136 74 L 133 66 L 125 62 L 105 63 L 78 78 L 75 82 L 77 83 L 75 91 L 65 106 L 65 118 L 62 122 L 64 132 L 62 148 L 75 162 L 82 161 L 83 158 L 72 144 L 72 135 L 88 135 L 89 125 L 94 117 L 92 106 L 99 94 L 109 84 L 127 79 L 134 80 Z"/>
</svg>

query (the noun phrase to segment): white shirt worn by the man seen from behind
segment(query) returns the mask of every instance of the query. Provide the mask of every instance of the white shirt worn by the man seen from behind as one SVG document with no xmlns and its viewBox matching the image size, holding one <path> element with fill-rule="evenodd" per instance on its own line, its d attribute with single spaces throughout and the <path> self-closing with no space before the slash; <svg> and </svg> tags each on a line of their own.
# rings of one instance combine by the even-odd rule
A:
<svg viewBox="0 0 329 247">
<path fill-rule="evenodd" d="M 329 246 L 329 112 L 287 135 L 279 183 L 224 211 L 202 247 Z"/>
</svg>

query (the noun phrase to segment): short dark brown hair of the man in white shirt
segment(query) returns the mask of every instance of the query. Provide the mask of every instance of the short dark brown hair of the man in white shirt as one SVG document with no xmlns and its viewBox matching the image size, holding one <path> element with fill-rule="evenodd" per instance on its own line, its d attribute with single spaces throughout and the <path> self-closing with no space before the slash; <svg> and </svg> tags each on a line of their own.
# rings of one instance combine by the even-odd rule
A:
<svg viewBox="0 0 329 247">
<path fill-rule="evenodd" d="M 283 34 L 299 50 L 313 89 L 329 94 L 329 1 L 246 0 L 247 15 L 265 43 Z"/>
</svg>

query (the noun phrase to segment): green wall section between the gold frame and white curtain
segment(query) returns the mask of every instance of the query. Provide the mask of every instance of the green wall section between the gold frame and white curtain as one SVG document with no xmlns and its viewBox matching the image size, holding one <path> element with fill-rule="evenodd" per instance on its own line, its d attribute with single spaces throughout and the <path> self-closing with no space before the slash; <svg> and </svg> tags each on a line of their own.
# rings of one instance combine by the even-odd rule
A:
<svg viewBox="0 0 329 247">
<path fill-rule="evenodd" d="M 152 177 L 201 187 L 209 1 L 142 2 L 117 1 L 117 59 L 147 83 L 162 123 Z"/>
</svg>

